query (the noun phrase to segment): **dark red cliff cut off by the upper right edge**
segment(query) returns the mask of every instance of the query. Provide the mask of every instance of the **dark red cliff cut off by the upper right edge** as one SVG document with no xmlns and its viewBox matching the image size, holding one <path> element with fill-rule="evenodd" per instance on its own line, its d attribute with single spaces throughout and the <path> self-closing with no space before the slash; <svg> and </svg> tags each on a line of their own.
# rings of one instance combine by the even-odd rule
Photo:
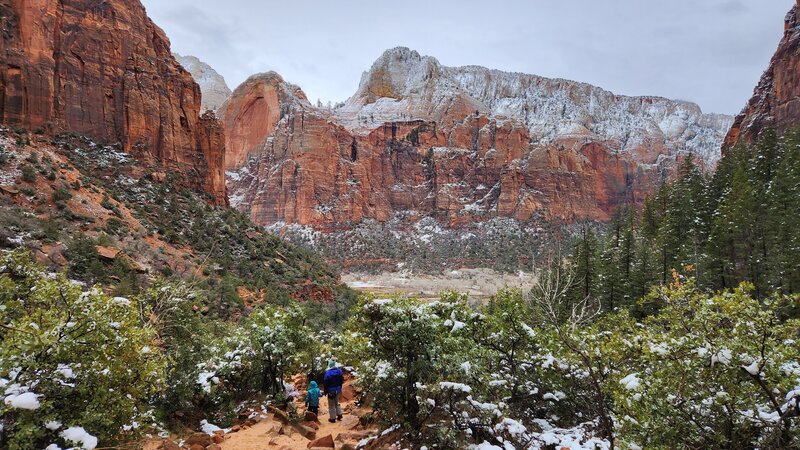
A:
<svg viewBox="0 0 800 450">
<path fill-rule="evenodd" d="M 783 39 L 753 97 L 736 116 L 725 145 L 752 142 L 774 128 L 782 134 L 800 122 L 800 2 L 786 15 Z"/>
</svg>

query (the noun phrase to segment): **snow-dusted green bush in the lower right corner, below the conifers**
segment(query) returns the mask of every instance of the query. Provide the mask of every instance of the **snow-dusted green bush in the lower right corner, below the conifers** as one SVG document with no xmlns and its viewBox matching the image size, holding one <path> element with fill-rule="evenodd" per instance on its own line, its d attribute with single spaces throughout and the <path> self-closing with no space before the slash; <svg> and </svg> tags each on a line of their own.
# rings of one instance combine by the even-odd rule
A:
<svg viewBox="0 0 800 450">
<path fill-rule="evenodd" d="M 797 300 L 751 290 L 708 295 L 690 280 L 645 299 L 663 307 L 626 341 L 621 435 L 643 448 L 800 446 L 800 320 L 781 317 Z"/>
</svg>

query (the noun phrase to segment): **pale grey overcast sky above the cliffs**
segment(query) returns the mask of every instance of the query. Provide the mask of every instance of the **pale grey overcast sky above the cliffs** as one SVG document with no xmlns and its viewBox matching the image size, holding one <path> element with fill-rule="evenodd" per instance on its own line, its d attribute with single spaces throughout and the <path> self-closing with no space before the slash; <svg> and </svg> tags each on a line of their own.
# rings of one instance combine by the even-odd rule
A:
<svg viewBox="0 0 800 450">
<path fill-rule="evenodd" d="M 618 94 L 744 106 L 792 0 L 143 0 L 172 49 L 231 89 L 275 70 L 309 99 L 345 100 L 380 54 L 567 78 Z"/>
</svg>

